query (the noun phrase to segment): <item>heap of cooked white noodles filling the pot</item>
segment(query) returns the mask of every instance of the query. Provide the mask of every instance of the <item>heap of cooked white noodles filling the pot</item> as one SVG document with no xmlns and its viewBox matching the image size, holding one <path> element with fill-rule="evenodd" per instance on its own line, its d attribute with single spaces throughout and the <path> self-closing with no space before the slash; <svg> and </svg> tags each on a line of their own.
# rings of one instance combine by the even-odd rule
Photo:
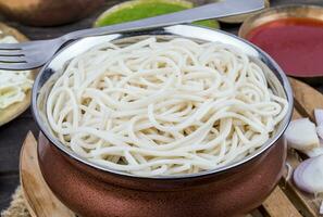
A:
<svg viewBox="0 0 323 217">
<path fill-rule="evenodd" d="M 148 38 L 74 58 L 46 116 L 55 137 L 90 162 L 169 176 L 240 161 L 271 138 L 287 106 L 234 47 Z"/>
</svg>

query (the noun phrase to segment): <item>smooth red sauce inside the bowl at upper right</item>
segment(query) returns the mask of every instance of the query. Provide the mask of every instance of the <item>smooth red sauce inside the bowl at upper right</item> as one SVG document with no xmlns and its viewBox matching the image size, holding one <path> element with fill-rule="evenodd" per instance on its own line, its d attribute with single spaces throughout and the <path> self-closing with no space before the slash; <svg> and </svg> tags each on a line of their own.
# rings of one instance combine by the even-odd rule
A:
<svg viewBox="0 0 323 217">
<path fill-rule="evenodd" d="M 288 75 L 323 76 L 323 22 L 282 18 L 252 29 L 247 39 L 269 53 Z"/>
</svg>

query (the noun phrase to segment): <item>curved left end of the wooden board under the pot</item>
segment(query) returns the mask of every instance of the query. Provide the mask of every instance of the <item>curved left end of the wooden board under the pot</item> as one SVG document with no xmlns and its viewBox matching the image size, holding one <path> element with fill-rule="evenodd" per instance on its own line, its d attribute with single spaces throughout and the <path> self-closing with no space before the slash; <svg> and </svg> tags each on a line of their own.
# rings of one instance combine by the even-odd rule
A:
<svg viewBox="0 0 323 217">
<path fill-rule="evenodd" d="M 46 184 L 37 156 L 37 142 L 29 131 L 21 151 L 21 184 L 33 217 L 75 217 Z"/>
</svg>

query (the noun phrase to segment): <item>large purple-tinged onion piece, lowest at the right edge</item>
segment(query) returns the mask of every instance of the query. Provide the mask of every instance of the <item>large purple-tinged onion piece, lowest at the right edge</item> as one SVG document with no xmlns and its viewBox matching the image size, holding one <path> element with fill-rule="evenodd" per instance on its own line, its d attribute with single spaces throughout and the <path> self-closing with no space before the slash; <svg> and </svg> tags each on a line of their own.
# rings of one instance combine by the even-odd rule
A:
<svg viewBox="0 0 323 217">
<path fill-rule="evenodd" d="M 293 177 L 302 191 L 314 194 L 323 192 L 323 155 L 303 161 Z"/>
</svg>

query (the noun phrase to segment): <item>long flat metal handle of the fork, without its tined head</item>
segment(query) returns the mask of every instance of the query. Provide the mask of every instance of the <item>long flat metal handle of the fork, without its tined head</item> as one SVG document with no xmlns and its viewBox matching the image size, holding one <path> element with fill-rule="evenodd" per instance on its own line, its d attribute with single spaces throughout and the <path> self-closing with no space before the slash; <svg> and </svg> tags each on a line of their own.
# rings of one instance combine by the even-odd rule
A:
<svg viewBox="0 0 323 217">
<path fill-rule="evenodd" d="M 195 21 L 203 21 L 209 18 L 219 18 L 224 16 L 243 14 L 260 9 L 263 9 L 263 0 L 225 0 L 181 12 L 138 20 L 134 22 L 122 23 L 99 28 L 76 30 L 62 36 L 62 38 L 69 41 L 88 36 L 145 30 L 175 24 L 191 23 Z"/>
</svg>

